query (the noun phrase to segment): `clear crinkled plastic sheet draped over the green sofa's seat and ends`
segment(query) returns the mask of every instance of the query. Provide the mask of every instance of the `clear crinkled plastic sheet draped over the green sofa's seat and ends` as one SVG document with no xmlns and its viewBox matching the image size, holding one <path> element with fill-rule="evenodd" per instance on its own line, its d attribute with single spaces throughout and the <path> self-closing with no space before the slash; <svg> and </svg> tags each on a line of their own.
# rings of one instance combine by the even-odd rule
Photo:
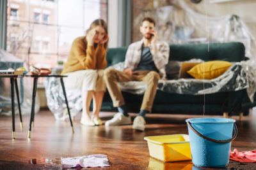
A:
<svg viewBox="0 0 256 170">
<path fill-rule="evenodd" d="M 194 59 L 191 62 L 202 60 Z M 248 96 L 253 102 L 253 96 L 256 92 L 256 68 L 255 62 L 250 60 L 234 62 L 232 66 L 221 76 L 212 80 L 197 80 L 194 78 L 181 78 L 178 80 L 159 80 L 158 88 L 164 92 L 175 94 L 202 95 L 215 92 L 236 91 L 247 88 Z M 124 69 L 124 62 L 119 62 L 111 66 L 117 70 Z M 56 73 L 56 69 L 52 69 Z M 60 71 L 58 71 L 60 72 Z M 65 98 L 61 89 L 60 78 L 45 78 L 45 92 L 47 105 L 54 113 L 56 120 L 65 120 L 68 118 Z M 143 94 L 147 85 L 143 81 L 129 81 L 118 83 L 120 89 L 132 94 Z M 72 117 L 75 117 L 82 110 L 81 89 L 66 90 L 68 104 Z"/>
</svg>

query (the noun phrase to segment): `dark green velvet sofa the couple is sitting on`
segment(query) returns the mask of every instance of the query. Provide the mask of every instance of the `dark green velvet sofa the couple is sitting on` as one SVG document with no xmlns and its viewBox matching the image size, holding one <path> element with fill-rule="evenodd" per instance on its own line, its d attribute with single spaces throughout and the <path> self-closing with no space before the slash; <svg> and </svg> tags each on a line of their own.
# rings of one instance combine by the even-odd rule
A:
<svg viewBox="0 0 256 170">
<path fill-rule="evenodd" d="M 107 53 L 108 66 L 122 62 L 125 59 L 127 47 L 109 48 Z M 189 44 L 189 45 L 170 45 L 169 60 L 226 60 L 229 62 L 240 62 L 246 60 L 244 56 L 244 45 L 242 43 L 212 43 Z M 140 110 L 143 95 L 122 92 L 128 111 L 138 113 Z M 204 102 L 205 99 L 205 102 Z M 205 108 L 204 108 L 205 103 Z M 255 106 L 250 103 L 246 94 L 246 89 L 233 92 L 217 92 L 200 96 L 172 94 L 157 90 L 152 113 L 177 113 L 203 115 L 239 115 L 248 114 L 248 109 Z M 102 110 L 117 111 L 113 107 L 111 97 L 106 92 Z"/>
</svg>

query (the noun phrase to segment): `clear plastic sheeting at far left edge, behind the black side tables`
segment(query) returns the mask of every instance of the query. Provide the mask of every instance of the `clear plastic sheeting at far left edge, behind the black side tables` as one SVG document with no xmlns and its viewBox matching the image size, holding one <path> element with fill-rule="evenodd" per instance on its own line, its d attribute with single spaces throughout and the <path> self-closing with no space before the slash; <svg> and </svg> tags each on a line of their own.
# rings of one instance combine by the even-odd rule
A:
<svg viewBox="0 0 256 170">
<path fill-rule="evenodd" d="M 23 62 L 14 55 L 0 49 L 0 69 L 16 69 L 22 67 Z M 20 108 L 22 115 L 31 113 L 33 81 L 31 78 L 18 78 Z M 0 78 L 0 114 L 12 115 L 10 78 Z M 35 113 L 39 111 L 39 101 L 36 97 Z M 15 114 L 19 114 L 15 92 Z"/>
</svg>

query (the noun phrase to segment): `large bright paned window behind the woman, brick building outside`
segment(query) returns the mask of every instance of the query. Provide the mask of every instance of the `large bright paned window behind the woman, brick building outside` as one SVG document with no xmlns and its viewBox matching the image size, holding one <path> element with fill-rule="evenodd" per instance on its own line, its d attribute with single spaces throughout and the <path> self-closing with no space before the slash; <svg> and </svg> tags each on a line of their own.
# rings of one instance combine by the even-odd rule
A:
<svg viewBox="0 0 256 170">
<path fill-rule="evenodd" d="M 17 1 L 7 0 L 6 44 L 8 52 L 24 60 L 26 69 L 65 62 L 74 39 L 84 36 L 92 21 L 108 12 L 106 8 L 101 12 L 107 0 L 19 0 L 19 6 Z M 11 34 L 18 36 L 11 38 Z"/>
</svg>

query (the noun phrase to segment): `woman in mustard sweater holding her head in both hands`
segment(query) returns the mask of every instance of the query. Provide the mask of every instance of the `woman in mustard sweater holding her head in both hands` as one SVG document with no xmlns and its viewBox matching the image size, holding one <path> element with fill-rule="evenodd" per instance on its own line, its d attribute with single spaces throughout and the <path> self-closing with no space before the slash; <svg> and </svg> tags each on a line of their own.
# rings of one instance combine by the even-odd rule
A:
<svg viewBox="0 0 256 170">
<path fill-rule="evenodd" d="M 76 38 L 72 43 L 67 62 L 61 74 L 66 89 L 81 89 L 83 113 L 81 124 L 102 125 L 99 111 L 106 85 L 102 78 L 107 66 L 108 27 L 104 20 L 92 22 L 86 36 Z M 93 99 L 93 115 L 90 117 L 90 103 Z"/>
</svg>

